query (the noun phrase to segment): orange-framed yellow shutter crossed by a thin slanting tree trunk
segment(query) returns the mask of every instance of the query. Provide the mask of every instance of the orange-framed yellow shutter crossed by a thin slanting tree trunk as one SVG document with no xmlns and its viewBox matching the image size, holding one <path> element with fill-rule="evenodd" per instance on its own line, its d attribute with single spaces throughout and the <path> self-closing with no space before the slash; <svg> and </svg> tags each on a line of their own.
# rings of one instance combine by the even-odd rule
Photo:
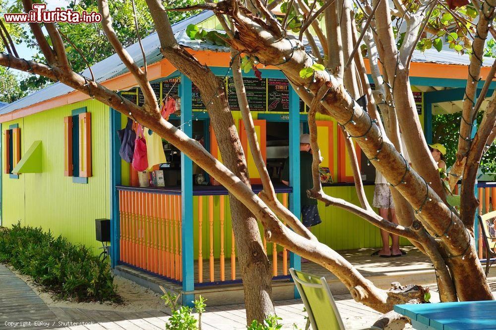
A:
<svg viewBox="0 0 496 330">
<path fill-rule="evenodd" d="M 253 124 L 255 126 L 256 139 L 258 141 L 258 145 L 260 146 L 260 152 L 262 153 L 263 162 L 267 164 L 266 122 L 263 119 L 255 119 L 253 120 Z M 259 185 L 262 183 L 262 180 L 260 179 L 260 173 L 258 173 L 258 170 L 256 169 L 253 156 L 251 155 L 251 150 L 248 146 L 247 132 L 245 130 L 245 124 L 243 123 L 242 119 L 240 119 L 240 140 L 241 145 L 243 146 L 243 151 L 245 152 L 245 157 L 247 159 L 250 182 L 251 184 Z"/>
</svg>

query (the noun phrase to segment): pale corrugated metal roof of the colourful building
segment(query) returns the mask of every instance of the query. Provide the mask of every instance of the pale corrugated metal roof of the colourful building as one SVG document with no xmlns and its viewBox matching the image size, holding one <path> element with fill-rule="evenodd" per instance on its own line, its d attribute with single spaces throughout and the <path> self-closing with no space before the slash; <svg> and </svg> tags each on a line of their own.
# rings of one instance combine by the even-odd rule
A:
<svg viewBox="0 0 496 330">
<path fill-rule="evenodd" d="M 209 50 L 209 51 L 220 51 L 220 52 L 230 51 L 229 47 L 218 46 L 211 44 L 209 42 L 204 42 L 199 40 L 191 40 L 186 35 L 186 27 L 189 24 L 198 24 L 208 19 L 212 15 L 213 12 L 211 11 L 203 11 L 197 15 L 191 16 L 181 22 L 174 24 L 172 28 L 178 43 L 182 46 L 189 47 L 194 50 Z M 162 54 L 160 53 L 160 41 L 158 39 L 156 32 L 144 38 L 141 41 L 141 43 L 145 50 L 147 64 L 155 63 L 163 58 Z M 305 39 L 303 40 L 303 43 L 308 44 Z M 316 43 L 317 46 L 320 49 L 322 49 L 322 47 L 320 47 L 320 43 L 318 42 L 318 40 L 316 40 Z M 143 64 L 141 49 L 137 43 L 127 47 L 126 50 L 138 65 Z M 310 46 L 307 46 L 307 50 L 310 52 L 311 50 Z M 438 52 L 435 49 L 428 49 L 425 52 L 414 50 L 412 61 L 423 62 L 423 63 L 437 63 L 437 64 L 469 65 L 470 57 L 469 55 L 466 54 L 460 55 L 452 51 L 441 50 Z M 484 57 L 483 66 L 491 66 L 493 65 L 493 61 L 494 59 L 491 57 Z M 95 75 L 95 79 L 100 83 L 112 79 L 114 77 L 120 76 L 128 71 L 117 54 L 114 54 L 96 63 L 91 68 L 93 70 L 93 74 Z M 90 73 L 88 69 L 83 71 L 82 74 L 86 77 L 90 77 Z M 40 91 L 37 91 L 15 102 L 12 102 L 7 106 L 1 107 L 0 115 L 15 111 L 17 109 L 22 109 L 57 96 L 68 94 L 73 91 L 74 89 L 63 85 L 62 83 L 55 83 Z"/>
</svg>

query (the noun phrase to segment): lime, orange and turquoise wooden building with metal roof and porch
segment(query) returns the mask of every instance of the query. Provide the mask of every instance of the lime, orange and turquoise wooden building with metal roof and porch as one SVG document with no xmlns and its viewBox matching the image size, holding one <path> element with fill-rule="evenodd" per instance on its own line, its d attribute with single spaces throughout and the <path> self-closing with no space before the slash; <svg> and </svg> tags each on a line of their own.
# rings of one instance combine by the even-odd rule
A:
<svg viewBox="0 0 496 330">
<path fill-rule="evenodd" d="M 202 12 L 175 24 L 173 29 L 181 45 L 225 79 L 233 118 L 248 152 L 231 86 L 229 49 L 190 40 L 185 33 L 189 24 L 218 29 L 218 22 L 211 13 Z M 174 95 L 180 99 L 180 113 L 172 115 L 171 122 L 221 160 L 195 86 L 162 57 L 156 34 L 143 39 L 142 44 L 148 78 L 157 98 Z M 142 63 L 138 45 L 127 51 L 138 64 Z M 462 99 L 468 63 L 468 56 L 447 51 L 414 53 L 410 81 L 428 141 L 433 109 L 434 113 L 453 109 L 453 104 Z M 491 64 L 489 60 L 484 63 L 483 77 Z M 142 95 L 136 82 L 117 55 L 92 69 L 104 86 L 140 104 Z M 261 72 L 261 81 L 252 73 L 245 75 L 258 141 L 278 198 L 292 211 L 299 210 L 299 173 L 293 169 L 299 168 L 299 136 L 308 131 L 307 108 L 277 68 L 268 67 Z M 89 73 L 85 71 L 83 75 Z M 481 87 L 483 83 L 484 80 Z M 230 285 L 240 290 L 227 190 L 211 185 L 214 180 L 207 175 L 204 177 L 209 185 L 193 183 L 193 175 L 203 174 L 201 169 L 166 141 L 163 146 L 167 163 L 155 167 L 164 171 L 166 186 L 138 187 L 137 173 L 119 156 L 117 131 L 124 128 L 126 121 L 114 109 L 61 83 L 1 107 L 1 225 L 20 222 L 41 226 L 96 249 L 101 243 L 95 239 L 95 219 L 110 219 L 110 254 L 116 271 L 165 281 L 161 283 L 184 294 L 185 304 L 198 288 L 219 292 Z M 317 126 L 324 157 L 321 166 L 329 168 L 333 180 L 323 185 L 324 191 L 358 203 L 344 139 L 336 122 L 320 116 Z M 279 183 L 282 162 L 288 156 L 292 187 Z M 372 200 L 374 169 L 367 165 L 366 157 L 359 158 L 365 190 Z M 248 171 L 256 192 L 260 182 L 249 152 Z M 380 246 L 379 230 L 366 221 L 320 204 L 319 212 L 323 223 L 312 231 L 331 248 Z M 273 264 L 274 292 L 280 292 L 281 297 L 293 296 L 288 268 L 290 264 L 300 267 L 299 257 L 291 255 L 288 260 L 289 252 L 282 247 L 267 242 L 264 246 Z M 282 258 L 277 253 L 281 251 Z"/>
</svg>

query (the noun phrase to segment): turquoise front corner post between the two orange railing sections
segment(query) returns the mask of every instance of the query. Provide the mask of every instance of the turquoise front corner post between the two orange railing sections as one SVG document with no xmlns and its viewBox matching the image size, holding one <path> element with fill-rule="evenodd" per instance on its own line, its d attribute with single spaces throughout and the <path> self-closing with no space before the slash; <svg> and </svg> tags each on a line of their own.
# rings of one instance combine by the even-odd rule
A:
<svg viewBox="0 0 496 330">
<path fill-rule="evenodd" d="M 179 86 L 181 95 L 181 130 L 191 137 L 192 110 L 191 110 L 191 80 L 181 75 Z M 193 263 L 193 163 L 183 152 L 181 153 L 181 211 L 183 242 L 183 305 L 193 306 L 194 300 L 194 263 Z"/>
</svg>

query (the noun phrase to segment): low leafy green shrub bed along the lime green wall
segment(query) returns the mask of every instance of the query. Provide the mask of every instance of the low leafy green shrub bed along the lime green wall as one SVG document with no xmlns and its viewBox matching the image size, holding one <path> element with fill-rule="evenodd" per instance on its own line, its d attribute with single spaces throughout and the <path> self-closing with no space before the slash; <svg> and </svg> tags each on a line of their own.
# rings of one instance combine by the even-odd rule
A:
<svg viewBox="0 0 496 330">
<path fill-rule="evenodd" d="M 112 301 L 116 293 L 108 258 L 100 260 L 84 245 L 69 243 L 41 228 L 21 227 L 0 231 L 0 262 L 12 265 L 57 298 L 76 301 Z"/>
</svg>

